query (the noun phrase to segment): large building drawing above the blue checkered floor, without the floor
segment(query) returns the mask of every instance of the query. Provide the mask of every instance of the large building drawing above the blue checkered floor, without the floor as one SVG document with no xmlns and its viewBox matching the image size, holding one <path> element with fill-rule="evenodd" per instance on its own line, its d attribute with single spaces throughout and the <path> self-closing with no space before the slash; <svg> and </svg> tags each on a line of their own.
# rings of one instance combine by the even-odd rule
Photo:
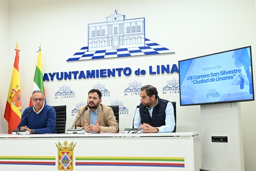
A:
<svg viewBox="0 0 256 171">
<path fill-rule="evenodd" d="M 88 51 L 145 46 L 145 18 L 125 20 L 108 16 L 106 22 L 88 24 Z"/>
</svg>

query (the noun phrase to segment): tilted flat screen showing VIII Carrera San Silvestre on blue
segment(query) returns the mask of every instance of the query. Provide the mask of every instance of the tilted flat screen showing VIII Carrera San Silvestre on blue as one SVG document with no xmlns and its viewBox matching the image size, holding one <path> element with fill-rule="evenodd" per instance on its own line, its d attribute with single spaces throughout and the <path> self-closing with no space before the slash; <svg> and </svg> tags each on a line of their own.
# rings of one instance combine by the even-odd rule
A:
<svg viewBox="0 0 256 171">
<path fill-rule="evenodd" d="M 179 61 L 180 106 L 254 100 L 251 46 Z"/>
</svg>

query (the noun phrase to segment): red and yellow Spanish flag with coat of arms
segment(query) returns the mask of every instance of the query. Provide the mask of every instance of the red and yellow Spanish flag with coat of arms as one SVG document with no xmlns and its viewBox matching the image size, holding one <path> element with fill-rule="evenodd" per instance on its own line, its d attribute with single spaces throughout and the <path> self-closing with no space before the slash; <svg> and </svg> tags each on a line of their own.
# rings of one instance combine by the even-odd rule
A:
<svg viewBox="0 0 256 171">
<path fill-rule="evenodd" d="M 13 66 L 13 75 L 11 76 L 11 83 L 4 111 L 4 118 L 8 121 L 8 133 L 11 133 L 11 130 L 16 130 L 21 120 L 20 50 L 18 44 L 16 44 L 15 51 L 16 56 Z"/>
</svg>

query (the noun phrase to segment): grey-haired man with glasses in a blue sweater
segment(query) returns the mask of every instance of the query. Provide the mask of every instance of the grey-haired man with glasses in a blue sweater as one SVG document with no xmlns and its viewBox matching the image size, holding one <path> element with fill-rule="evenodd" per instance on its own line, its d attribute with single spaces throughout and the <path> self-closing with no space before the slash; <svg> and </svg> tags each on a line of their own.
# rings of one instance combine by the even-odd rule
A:
<svg viewBox="0 0 256 171">
<path fill-rule="evenodd" d="M 56 112 L 53 107 L 45 105 L 45 96 L 40 90 L 32 93 L 33 106 L 27 107 L 21 115 L 19 130 L 28 130 L 30 133 L 57 133 Z"/>
</svg>

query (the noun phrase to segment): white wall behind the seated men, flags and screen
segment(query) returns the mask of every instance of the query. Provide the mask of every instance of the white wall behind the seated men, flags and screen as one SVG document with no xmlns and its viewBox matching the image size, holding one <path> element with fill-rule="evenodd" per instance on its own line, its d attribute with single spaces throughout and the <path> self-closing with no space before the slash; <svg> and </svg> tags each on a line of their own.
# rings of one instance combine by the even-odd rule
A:
<svg viewBox="0 0 256 171">
<path fill-rule="evenodd" d="M 9 2 L 9 4 L 8 4 Z M 177 64 L 181 59 L 203 56 L 243 46 L 252 46 L 256 57 L 255 5 L 253 0 L 227 1 L 82 1 L 82 0 L 10 0 L 1 1 L 0 35 L 1 57 L 1 133 L 7 132 L 3 119 L 10 76 L 15 57 L 16 42 L 20 45 L 20 82 L 22 91 L 22 111 L 28 106 L 33 86 L 36 51 L 42 45 L 42 67 L 44 72 L 93 70 L 130 67 L 132 70 L 148 66 Z M 3 9 L 3 10 L 2 10 Z M 141 56 L 120 59 L 103 59 L 82 62 L 66 62 L 72 54 L 87 45 L 88 23 L 104 22 L 107 16 L 125 15 L 125 19 L 145 17 L 146 38 L 175 51 L 175 54 Z M 8 19 L 9 11 L 9 21 Z M 5 16 L 5 17 L 3 17 Z M 9 32 L 9 37 L 6 38 Z M 2 36 L 1 36 L 2 38 Z M 7 43 L 8 42 L 8 43 Z M 8 58 L 6 58 L 8 54 Z M 7 60 L 6 60 L 7 59 Z M 253 58 L 254 59 L 254 58 Z M 253 60 L 255 64 L 256 60 Z M 148 69 L 147 69 L 148 70 Z M 254 73 L 255 67 L 253 68 Z M 255 74 L 254 74 L 255 75 Z M 111 91 L 110 97 L 103 97 L 102 103 L 109 105 L 114 100 L 125 102 L 128 115 L 120 116 L 120 130 L 130 126 L 139 103 L 139 96 L 124 96 L 124 89 L 134 80 L 143 85 L 153 84 L 160 91 L 160 97 L 177 101 L 178 131 L 200 131 L 200 107 L 180 107 L 179 94 L 161 94 L 161 87 L 167 80 L 178 78 L 178 74 L 161 74 L 129 77 L 91 78 L 87 80 L 67 80 L 45 82 L 49 105 L 68 106 L 68 112 L 75 103 L 86 102 L 92 85 L 104 83 Z M 59 86 L 71 86 L 76 92 L 74 99 L 54 99 Z M 241 103 L 245 170 L 253 170 L 256 158 L 255 101 Z M 68 116 L 67 126 L 74 117 Z M 253 149 L 254 147 L 254 149 Z"/>
</svg>

